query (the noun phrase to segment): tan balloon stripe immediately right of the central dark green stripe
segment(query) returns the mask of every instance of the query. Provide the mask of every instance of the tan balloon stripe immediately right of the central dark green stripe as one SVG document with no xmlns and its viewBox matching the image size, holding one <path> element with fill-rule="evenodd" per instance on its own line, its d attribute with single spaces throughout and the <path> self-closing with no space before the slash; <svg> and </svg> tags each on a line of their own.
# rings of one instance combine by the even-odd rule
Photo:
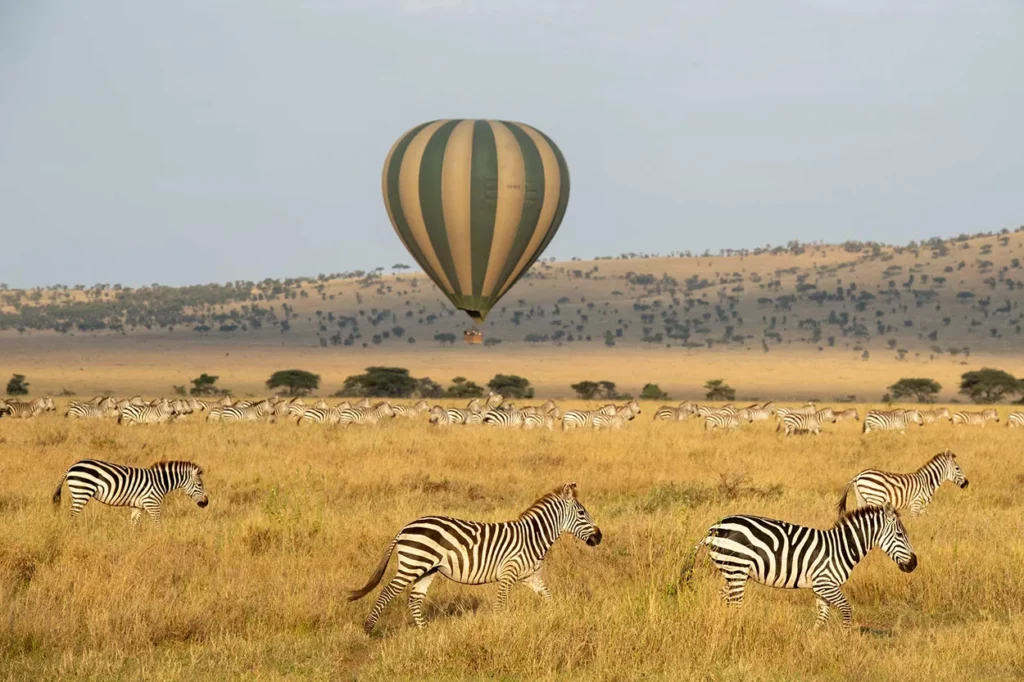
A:
<svg viewBox="0 0 1024 682">
<path fill-rule="evenodd" d="M 498 151 L 498 201 L 495 209 L 495 236 L 487 257 L 487 273 L 483 278 L 484 297 L 489 298 L 503 284 L 499 280 L 509 252 L 515 244 L 516 230 L 522 217 L 523 186 L 526 184 L 522 151 L 515 135 L 500 121 L 488 121 Z M 489 306 L 488 306 L 489 307 Z M 485 311 L 484 311 L 485 312 Z"/>
</svg>

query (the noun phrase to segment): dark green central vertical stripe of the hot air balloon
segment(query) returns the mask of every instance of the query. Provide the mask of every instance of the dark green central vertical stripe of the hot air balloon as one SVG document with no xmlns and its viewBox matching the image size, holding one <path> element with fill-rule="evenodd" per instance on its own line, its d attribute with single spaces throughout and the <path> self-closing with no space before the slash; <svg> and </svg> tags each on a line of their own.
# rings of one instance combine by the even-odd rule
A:
<svg viewBox="0 0 1024 682">
<path fill-rule="evenodd" d="M 487 258 L 495 235 L 498 208 L 498 150 L 495 134 L 486 121 L 473 123 L 473 162 L 470 170 L 470 223 L 473 242 L 473 296 L 483 292 Z"/>
</svg>

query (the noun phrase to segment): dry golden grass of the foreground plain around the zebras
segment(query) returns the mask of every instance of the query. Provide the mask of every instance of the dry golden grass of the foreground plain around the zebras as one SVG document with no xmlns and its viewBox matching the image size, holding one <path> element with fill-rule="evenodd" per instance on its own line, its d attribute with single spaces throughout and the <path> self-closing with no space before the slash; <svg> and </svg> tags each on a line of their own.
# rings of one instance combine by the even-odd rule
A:
<svg viewBox="0 0 1024 682">
<path fill-rule="evenodd" d="M 1024 675 L 1024 432 L 914 428 L 820 438 L 768 424 L 706 436 L 652 424 L 613 433 L 185 423 L 120 428 L 48 415 L 0 420 L 0 678 L 30 679 L 1019 679 Z M 860 406 L 861 410 L 863 406 Z M 1004 420 L 1007 409 L 1001 409 Z M 908 471 L 949 447 L 972 481 L 907 518 L 921 559 L 873 552 L 847 583 L 852 633 L 813 632 L 814 598 L 753 585 L 727 610 L 707 556 L 679 568 L 727 513 L 825 527 L 837 492 L 866 467 Z M 171 496 L 163 529 L 50 495 L 82 458 L 191 459 L 211 503 Z M 376 598 L 348 603 L 394 532 L 426 513 L 514 517 L 565 481 L 604 532 L 565 538 L 546 563 L 554 601 L 525 588 L 435 581 L 430 624 L 403 598 L 372 637 Z M 393 572 L 391 566 L 387 578 Z"/>
</svg>

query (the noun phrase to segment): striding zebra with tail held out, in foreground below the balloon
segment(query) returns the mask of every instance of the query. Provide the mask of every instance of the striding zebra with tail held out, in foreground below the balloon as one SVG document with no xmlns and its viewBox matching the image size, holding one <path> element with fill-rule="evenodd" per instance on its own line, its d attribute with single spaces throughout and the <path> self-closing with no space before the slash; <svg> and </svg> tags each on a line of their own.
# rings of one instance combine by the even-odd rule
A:
<svg viewBox="0 0 1024 682">
<path fill-rule="evenodd" d="M 550 601 L 551 591 L 541 570 L 548 550 L 563 532 L 590 547 L 601 543 L 601 529 L 580 502 L 575 483 L 566 483 L 541 497 L 514 521 L 480 523 L 423 516 L 398 531 L 370 581 L 351 591 L 348 600 L 361 599 L 377 587 L 397 549 L 398 570 L 381 590 L 362 625 L 368 634 L 388 602 L 410 584 L 409 609 L 416 626 L 425 627 L 423 598 L 437 573 L 464 585 L 497 582 L 498 610 L 505 607 L 509 589 L 519 582 Z"/>
</svg>

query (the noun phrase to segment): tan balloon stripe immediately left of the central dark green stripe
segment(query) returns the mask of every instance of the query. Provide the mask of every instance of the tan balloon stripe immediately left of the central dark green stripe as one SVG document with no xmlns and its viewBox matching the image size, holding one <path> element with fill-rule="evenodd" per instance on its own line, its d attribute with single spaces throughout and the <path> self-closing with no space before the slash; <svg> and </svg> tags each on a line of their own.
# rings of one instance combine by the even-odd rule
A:
<svg viewBox="0 0 1024 682">
<path fill-rule="evenodd" d="M 441 168 L 441 202 L 459 293 L 473 295 L 473 232 L 470 224 L 469 169 L 473 158 L 473 122 L 460 121 L 449 137 Z"/>
</svg>

